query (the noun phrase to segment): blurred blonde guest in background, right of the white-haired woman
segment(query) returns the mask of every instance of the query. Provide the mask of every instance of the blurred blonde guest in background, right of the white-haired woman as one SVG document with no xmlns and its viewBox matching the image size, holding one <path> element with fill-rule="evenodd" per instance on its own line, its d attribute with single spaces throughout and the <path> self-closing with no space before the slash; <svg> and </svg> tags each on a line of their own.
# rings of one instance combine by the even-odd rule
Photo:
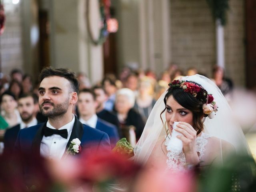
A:
<svg viewBox="0 0 256 192">
<path fill-rule="evenodd" d="M 150 78 L 144 77 L 139 82 L 138 95 L 134 104 L 134 108 L 138 110 L 140 115 L 146 121 L 156 103 L 153 98 L 154 86 Z"/>
</svg>

